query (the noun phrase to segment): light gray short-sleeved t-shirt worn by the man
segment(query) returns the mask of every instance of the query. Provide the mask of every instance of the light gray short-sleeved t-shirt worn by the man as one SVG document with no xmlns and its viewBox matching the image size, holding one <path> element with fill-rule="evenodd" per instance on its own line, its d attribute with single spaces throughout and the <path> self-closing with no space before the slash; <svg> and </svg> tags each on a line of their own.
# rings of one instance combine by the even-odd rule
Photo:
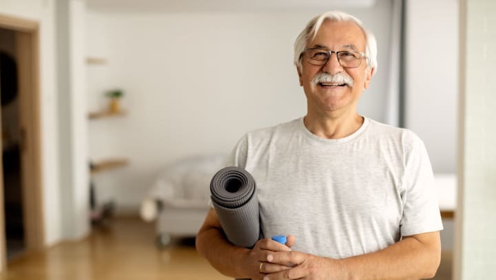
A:
<svg viewBox="0 0 496 280">
<path fill-rule="evenodd" d="M 300 118 L 245 134 L 228 163 L 256 181 L 264 236 L 293 234 L 293 250 L 342 259 L 442 230 L 431 163 L 410 130 L 364 118 L 322 139 Z"/>
</svg>

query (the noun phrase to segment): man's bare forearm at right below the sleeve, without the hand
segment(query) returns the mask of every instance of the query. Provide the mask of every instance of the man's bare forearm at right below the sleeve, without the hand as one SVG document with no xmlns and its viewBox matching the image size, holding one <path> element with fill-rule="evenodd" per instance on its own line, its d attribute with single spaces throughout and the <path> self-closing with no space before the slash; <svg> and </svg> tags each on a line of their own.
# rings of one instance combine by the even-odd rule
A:
<svg viewBox="0 0 496 280">
<path fill-rule="evenodd" d="M 441 253 L 439 242 L 433 242 L 433 239 L 435 237 L 407 237 L 378 252 L 342 259 L 347 279 L 432 278 L 439 266 Z"/>
</svg>

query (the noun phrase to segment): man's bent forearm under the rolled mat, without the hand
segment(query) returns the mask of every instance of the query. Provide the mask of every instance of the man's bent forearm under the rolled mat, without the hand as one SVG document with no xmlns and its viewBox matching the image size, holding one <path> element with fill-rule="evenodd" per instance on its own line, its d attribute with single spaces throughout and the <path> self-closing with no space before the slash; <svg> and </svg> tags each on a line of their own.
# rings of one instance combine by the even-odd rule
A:
<svg viewBox="0 0 496 280">
<path fill-rule="evenodd" d="M 219 228 L 210 227 L 199 232 L 196 237 L 196 250 L 220 273 L 229 277 L 247 277 L 243 263 L 249 249 L 234 246 L 226 241 Z"/>
</svg>

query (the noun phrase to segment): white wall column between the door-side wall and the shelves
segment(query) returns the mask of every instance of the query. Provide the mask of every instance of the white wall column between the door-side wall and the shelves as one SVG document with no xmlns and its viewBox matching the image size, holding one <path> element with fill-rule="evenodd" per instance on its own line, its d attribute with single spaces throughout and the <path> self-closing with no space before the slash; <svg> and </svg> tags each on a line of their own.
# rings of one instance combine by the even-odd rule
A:
<svg viewBox="0 0 496 280">
<path fill-rule="evenodd" d="M 61 223 L 64 239 L 90 230 L 87 166 L 85 2 L 56 1 Z"/>
</svg>

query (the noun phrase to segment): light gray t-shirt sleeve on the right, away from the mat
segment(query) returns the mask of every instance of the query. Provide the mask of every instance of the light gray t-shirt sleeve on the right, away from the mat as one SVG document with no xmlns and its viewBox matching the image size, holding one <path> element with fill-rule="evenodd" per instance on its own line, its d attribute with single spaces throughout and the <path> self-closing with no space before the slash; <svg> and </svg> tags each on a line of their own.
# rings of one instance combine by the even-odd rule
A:
<svg viewBox="0 0 496 280">
<path fill-rule="evenodd" d="M 431 161 L 424 143 L 415 140 L 405 157 L 402 236 L 443 229 Z"/>
</svg>

